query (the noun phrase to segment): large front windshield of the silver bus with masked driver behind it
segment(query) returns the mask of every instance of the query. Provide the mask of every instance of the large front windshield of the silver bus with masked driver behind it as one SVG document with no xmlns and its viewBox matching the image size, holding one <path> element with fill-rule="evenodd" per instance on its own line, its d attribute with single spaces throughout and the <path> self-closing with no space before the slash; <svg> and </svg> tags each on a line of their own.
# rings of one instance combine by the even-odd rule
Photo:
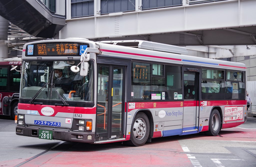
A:
<svg viewBox="0 0 256 167">
<path fill-rule="evenodd" d="M 87 76 L 70 70 L 71 66 L 79 63 L 80 61 L 24 61 L 20 97 L 92 102 L 93 63 L 88 62 Z"/>
</svg>

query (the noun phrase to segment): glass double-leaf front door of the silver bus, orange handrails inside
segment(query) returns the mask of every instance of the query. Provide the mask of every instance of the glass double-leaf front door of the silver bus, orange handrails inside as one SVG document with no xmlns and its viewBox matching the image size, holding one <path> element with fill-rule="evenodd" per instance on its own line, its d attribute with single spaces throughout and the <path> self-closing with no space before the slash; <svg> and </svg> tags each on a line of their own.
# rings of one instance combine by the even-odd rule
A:
<svg viewBox="0 0 256 167">
<path fill-rule="evenodd" d="M 96 142 L 123 138 L 125 71 L 121 65 L 98 65 Z"/>
</svg>

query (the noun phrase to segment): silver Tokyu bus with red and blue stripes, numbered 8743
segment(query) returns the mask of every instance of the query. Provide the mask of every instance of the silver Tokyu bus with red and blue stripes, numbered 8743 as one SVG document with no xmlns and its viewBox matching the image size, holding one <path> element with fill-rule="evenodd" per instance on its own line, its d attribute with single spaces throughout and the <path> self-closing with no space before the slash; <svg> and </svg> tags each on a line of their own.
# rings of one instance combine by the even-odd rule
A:
<svg viewBox="0 0 256 167">
<path fill-rule="evenodd" d="M 27 43 L 16 134 L 141 146 L 243 124 L 245 65 L 186 54 L 140 40 Z"/>
</svg>

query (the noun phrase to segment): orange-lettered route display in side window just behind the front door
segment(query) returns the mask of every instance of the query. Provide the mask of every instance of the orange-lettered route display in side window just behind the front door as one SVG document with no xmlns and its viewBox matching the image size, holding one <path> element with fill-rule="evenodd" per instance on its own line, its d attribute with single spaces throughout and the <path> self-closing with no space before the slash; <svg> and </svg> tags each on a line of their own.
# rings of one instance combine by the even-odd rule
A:
<svg viewBox="0 0 256 167">
<path fill-rule="evenodd" d="M 133 83 L 149 83 L 150 64 L 133 63 Z"/>
</svg>

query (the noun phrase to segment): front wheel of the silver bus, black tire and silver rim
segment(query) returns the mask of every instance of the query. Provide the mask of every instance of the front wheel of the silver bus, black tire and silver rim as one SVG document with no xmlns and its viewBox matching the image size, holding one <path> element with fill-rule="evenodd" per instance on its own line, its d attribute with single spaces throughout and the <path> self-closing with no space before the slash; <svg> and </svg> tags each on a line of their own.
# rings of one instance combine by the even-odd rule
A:
<svg viewBox="0 0 256 167">
<path fill-rule="evenodd" d="M 132 146 L 142 146 L 146 143 L 150 132 L 150 123 L 146 114 L 136 114 L 131 129 L 131 139 L 128 143 Z"/>
</svg>

